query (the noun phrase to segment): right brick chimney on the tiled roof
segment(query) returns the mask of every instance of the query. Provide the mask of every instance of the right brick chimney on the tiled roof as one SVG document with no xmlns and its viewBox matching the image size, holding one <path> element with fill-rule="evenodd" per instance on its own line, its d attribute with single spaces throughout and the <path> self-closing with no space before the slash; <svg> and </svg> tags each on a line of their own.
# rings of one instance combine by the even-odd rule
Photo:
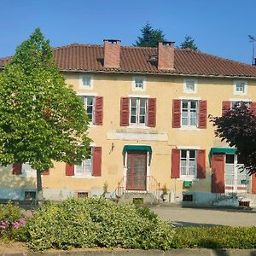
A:
<svg viewBox="0 0 256 256">
<path fill-rule="evenodd" d="M 174 69 L 174 43 L 175 42 L 158 43 L 158 69 Z"/>
</svg>

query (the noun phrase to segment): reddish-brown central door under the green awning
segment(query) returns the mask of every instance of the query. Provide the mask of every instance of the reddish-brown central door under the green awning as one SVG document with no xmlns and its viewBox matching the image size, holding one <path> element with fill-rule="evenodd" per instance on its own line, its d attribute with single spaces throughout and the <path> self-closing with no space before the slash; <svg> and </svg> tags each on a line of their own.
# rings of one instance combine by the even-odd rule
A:
<svg viewBox="0 0 256 256">
<path fill-rule="evenodd" d="M 127 152 L 127 190 L 146 190 L 147 188 L 147 152 Z"/>
</svg>

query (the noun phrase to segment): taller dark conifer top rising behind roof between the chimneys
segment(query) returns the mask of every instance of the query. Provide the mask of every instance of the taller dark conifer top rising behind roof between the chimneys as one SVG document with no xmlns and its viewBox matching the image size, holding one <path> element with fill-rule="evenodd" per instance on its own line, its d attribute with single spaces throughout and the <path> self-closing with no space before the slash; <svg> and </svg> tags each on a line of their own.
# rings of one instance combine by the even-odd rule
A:
<svg viewBox="0 0 256 256">
<path fill-rule="evenodd" d="M 143 26 L 142 36 L 137 37 L 134 46 L 157 47 L 159 42 L 166 41 L 164 33 L 160 29 L 154 29 L 149 23 Z"/>
</svg>

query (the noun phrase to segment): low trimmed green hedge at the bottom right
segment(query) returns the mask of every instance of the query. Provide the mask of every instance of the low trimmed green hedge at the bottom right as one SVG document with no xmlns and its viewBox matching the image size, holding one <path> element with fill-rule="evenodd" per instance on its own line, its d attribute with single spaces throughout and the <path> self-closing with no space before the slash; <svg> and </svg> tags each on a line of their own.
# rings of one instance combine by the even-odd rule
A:
<svg viewBox="0 0 256 256">
<path fill-rule="evenodd" d="M 173 248 L 256 248 L 256 227 L 183 227 L 175 230 Z"/>
</svg>

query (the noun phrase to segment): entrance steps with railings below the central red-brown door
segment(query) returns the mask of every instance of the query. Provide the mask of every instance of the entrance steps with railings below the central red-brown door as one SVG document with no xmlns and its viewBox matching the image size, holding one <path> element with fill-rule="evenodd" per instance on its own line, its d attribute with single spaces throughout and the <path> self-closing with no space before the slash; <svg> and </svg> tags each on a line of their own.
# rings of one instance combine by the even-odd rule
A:
<svg viewBox="0 0 256 256">
<path fill-rule="evenodd" d="M 162 189 L 160 183 L 153 176 L 147 176 L 145 190 L 126 189 L 127 177 L 124 176 L 118 183 L 118 187 L 113 191 L 111 198 L 114 201 L 122 201 L 126 203 L 141 201 L 143 203 L 159 203 Z"/>
</svg>

